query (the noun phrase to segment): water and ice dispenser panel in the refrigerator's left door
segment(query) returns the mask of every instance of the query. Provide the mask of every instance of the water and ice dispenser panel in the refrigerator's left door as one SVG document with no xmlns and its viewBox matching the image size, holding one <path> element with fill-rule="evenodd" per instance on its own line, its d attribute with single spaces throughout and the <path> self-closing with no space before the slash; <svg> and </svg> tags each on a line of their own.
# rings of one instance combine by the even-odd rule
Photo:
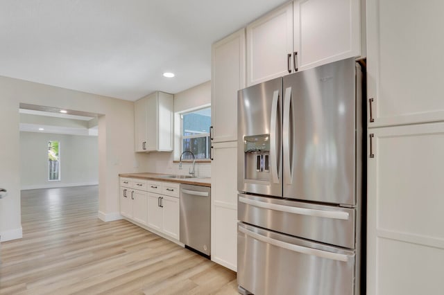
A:
<svg viewBox="0 0 444 295">
<path fill-rule="evenodd" d="M 245 179 L 270 180 L 270 134 L 244 136 Z"/>
</svg>

